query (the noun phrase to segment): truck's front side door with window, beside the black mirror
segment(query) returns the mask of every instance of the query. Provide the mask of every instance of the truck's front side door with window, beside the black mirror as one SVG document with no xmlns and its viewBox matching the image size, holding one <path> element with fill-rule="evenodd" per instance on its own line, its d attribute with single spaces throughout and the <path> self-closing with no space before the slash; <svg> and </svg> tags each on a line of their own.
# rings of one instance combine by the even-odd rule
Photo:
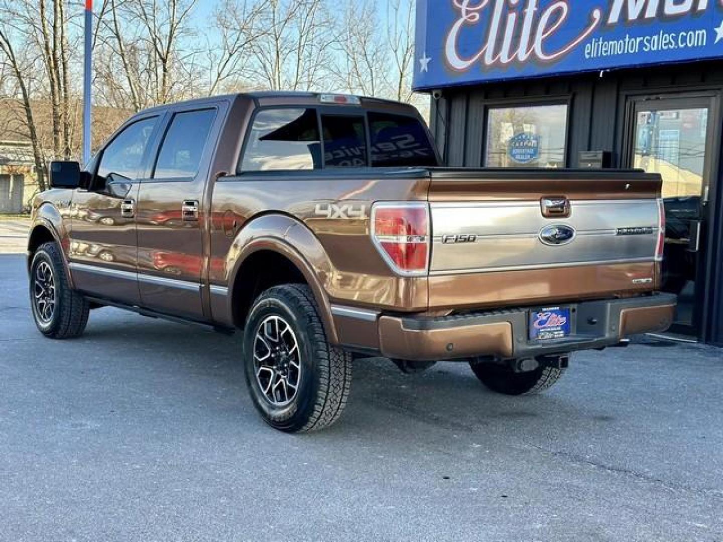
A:
<svg viewBox="0 0 723 542">
<path fill-rule="evenodd" d="M 136 119 L 90 165 L 89 189 L 77 189 L 71 207 L 69 259 L 82 291 L 137 304 L 135 204 L 142 164 L 158 128 L 157 115 Z"/>
</svg>

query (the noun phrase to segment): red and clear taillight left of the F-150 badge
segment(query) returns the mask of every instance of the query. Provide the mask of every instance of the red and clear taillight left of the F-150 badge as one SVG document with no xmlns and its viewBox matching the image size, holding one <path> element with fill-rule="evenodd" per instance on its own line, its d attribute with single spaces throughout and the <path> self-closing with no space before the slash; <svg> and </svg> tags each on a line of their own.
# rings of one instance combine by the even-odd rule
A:
<svg viewBox="0 0 723 542">
<path fill-rule="evenodd" d="M 372 241 L 398 275 L 424 275 L 429 267 L 429 206 L 378 203 L 372 207 Z"/>
</svg>

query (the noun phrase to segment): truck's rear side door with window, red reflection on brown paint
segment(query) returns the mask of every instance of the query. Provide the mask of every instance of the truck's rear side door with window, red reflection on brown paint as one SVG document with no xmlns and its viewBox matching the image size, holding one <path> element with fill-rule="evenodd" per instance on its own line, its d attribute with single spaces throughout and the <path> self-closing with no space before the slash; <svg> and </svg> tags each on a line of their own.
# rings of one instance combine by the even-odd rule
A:
<svg viewBox="0 0 723 542">
<path fill-rule="evenodd" d="M 206 319 L 205 189 L 221 104 L 172 108 L 140 183 L 136 211 L 138 284 L 149 309 Z"/>
</svg>

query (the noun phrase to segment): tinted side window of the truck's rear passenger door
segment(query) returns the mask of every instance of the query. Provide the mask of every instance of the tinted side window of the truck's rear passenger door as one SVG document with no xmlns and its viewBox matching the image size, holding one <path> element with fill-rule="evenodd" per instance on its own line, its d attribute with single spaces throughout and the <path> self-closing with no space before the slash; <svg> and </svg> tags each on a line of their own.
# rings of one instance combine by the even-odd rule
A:
<svg viewBox="0 0 723 542">
<path fill-rule="evenodd" d="M 176 113 L 163 137 L 153 178 L 194 178 L 215 116 L 215 109 Z"/>
</svg>

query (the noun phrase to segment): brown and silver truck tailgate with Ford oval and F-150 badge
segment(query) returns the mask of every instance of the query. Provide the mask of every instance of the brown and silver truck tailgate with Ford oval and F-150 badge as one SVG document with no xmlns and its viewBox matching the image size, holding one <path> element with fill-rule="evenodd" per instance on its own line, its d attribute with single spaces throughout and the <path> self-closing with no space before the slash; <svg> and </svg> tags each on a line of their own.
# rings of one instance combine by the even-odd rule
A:
<svg viewBox="0 0 723 542">
<path fill-rule="evenodd" d="M 658 176 L 435 169 L 431 177 L 432 308 L 656 288 Z"/>
</svg>

